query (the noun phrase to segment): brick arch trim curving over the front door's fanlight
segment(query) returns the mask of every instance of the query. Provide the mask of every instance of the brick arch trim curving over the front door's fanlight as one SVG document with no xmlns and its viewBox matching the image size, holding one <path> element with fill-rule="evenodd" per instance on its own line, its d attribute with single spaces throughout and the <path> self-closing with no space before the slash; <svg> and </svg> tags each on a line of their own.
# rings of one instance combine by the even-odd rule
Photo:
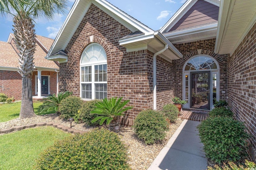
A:
<svg viewBox="0 0 256 170">
<path fill-rule="evenodd" d="M 183 66 L 186 63 L 186 61 L 188 61 L 191 57 L 194 57 L 195 55 L 199 55 L 197 50 L 192 52 L 192 53 L 189 53 L 188 55 L 183 57 L 182 61 L 180 61 L 178 70 L 183 71 Z M 218 62 L 219 66 L 220 66 L 220 63 L 223 62 L 222 58 L 218 54 L 216 54 L 216 53 L 214 53 L 213 51 L 210 51 L 210 50 L 202 50 L 200 55 L 208 55 L 208 56 L 214 58 Z"/>
</svg>

